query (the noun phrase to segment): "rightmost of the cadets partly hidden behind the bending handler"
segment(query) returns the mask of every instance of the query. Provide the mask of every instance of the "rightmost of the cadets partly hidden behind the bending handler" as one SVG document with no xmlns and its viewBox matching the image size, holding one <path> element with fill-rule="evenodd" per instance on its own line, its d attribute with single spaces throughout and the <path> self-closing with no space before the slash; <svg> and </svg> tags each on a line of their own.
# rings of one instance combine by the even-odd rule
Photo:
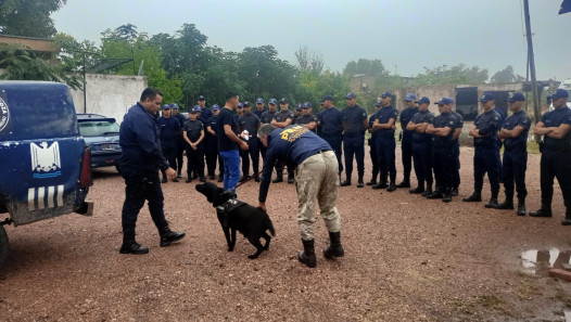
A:
<svg viewBox="0 0 571 322">
<path fill-rule="evenodd" d="M 339 177 L 343 171 L 343 164 L 341 163 L 341 142 L 343 141 L 343 116 L 341 111 L 333 106 L 333 96 L 323 96 L 323 111 L 317 115 L 318 132 L 321 139 L 326 140 L 333 149 L 339 164 Z M 340 180 L 341 181 L 341 180 Z"/>
</svg>

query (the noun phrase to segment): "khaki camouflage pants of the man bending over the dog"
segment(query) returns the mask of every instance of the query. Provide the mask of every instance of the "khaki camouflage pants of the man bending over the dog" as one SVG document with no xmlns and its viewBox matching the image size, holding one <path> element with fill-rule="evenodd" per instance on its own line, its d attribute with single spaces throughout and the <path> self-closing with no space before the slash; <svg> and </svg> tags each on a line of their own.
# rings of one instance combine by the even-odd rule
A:
<svg viewBox="0 0 571 322">
<path fill-rule="evenodd" d="M 327 230 L 338 232 L 341 219 L 337 210 L 339 190 L 339 164 L 335 153 L 327 151 L 305 159 L 295 169 L 295 188 L 297 190 L 297 222 L 302 240 L 314 239 L 315 205 L 326 222 Z"/>
</svg>

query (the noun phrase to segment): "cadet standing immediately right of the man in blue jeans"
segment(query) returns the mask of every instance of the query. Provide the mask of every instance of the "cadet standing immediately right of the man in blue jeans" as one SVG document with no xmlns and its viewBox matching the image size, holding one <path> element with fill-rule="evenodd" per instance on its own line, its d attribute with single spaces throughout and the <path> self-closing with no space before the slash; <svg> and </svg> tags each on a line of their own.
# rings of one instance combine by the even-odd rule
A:
<svg viewBox="0 0 571 322">
<path fill-rule="evenodd" d="M 250 105 L 250 102 L 245 102 L 244 114 L 238 118 L 238 132 L 240 133 L 239 137 L 240 139 L 245 140 L 250 146 L 248 150 L 241 151 L 242 176 L 243 178 L 250 176 L 250 158 L 252 158 L 252 172 L 255 176 L 256 182 L 259 182 L 259 149 L 257 145 L 257 129 L 259 126 L 259 118 L 257 118 L 257 116 L 252 113 L 252 106 Z M 245 134 L 244 131 L 248 131 L 248 134 Z"/>
</svg>

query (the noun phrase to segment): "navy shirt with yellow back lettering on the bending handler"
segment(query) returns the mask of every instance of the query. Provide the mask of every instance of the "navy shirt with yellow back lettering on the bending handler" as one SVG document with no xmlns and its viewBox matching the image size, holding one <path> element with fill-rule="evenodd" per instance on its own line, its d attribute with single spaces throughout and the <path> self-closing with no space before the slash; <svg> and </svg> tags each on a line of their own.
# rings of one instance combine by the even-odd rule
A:
<svg viewBox="0 0 571 322">
<path fill-rule="evenodd" d="M 326 150 L 332 149 L 323 139 L 304 126 L 293 125 L 271 131 L 268 134 L 268 150 L 264 158 L 258 201 L 261 203 L 266 202 L 271 171 L 276 160 L 286 159 L 288 164 L 296 168 L 306 158 Z"/>
</svg>

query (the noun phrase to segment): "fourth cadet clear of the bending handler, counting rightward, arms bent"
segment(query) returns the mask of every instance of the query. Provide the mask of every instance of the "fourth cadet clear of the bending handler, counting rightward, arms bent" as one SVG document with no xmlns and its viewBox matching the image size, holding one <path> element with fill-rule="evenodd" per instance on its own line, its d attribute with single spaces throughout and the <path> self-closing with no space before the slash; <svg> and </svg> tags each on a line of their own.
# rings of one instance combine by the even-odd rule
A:
<svg viewBox="0 0 571 322">
<path fill-rule="evenodd" d="M 413 116 L 407 131 L 411 131 L 413 158 L 418 185 L 409 190 L 410 193 L 421 193 L 422 196 L 432 194 L 432 136 L 427 133 L 427 127 L 434 121 L 434 114 L 429 111 L 430 100 L 422 96 L 417 101 L 418 113 Z M 401 117 L 402 119 L 402 117 Z M 424 186 L 426 183 L 426 186 Z"/>
</svg>

